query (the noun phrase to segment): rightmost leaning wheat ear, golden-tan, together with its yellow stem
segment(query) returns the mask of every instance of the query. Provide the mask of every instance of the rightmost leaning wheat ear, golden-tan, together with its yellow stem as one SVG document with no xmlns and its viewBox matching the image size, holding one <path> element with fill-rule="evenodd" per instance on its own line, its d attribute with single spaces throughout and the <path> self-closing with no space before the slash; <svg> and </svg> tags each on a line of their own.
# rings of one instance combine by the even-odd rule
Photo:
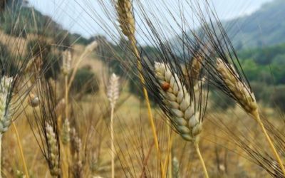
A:
<svg viewBox="0 0 285 178">
<path fill-rule="evenodd" d="M 221 75 L 222 80 L 224 80 L 224 83 L 227 85 L 227 88 L 229 88 L 229 90 L 234 95 L 234 98 L 236 98 L 237 102 L 247 113 L 249 113 L 249 115 L 252 115 L 254 120 L 259 123 L 259 126 L 261 127 L 262 132 L 264 132 L 266 140 L 269 143 L 271 151 L 276 157 L 277 162 L 279 163 L 279 166 L 281 167 L 282 172 L 285 176 L 285 168 L 283 162 L 281 161 L 281 158 L 279 157 L 279 154 L 276 151 L 276 148 L 274 147 L 274 144 L 267 134 L 267 131 L 260 119 L 258 105 L 254 97 L 254 93 L 249 90 L 247 85 L 239 80 L 239 75 L 235 72 L 234 68 L 231 65 L 225 64 L 220 58 L 217 58 L 217 71 L 219 75 Z"/>
</svg>

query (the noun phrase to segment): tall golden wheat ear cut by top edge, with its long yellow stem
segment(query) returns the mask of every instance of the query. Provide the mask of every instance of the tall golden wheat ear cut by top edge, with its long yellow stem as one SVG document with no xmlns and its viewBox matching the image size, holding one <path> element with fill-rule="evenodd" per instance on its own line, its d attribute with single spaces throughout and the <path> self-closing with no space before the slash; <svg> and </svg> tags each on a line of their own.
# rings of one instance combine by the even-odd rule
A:
<svg viewBox="0 0 285 178">
<path fill-rule="evenodd" d="M 145 96 L 145 101 L 147 104 L 148 119 L 150 121 L 150 126 L 152 128 L 152 135 L 155 141 L 155 147 L 157 150 L 158 160 L 160 162 L 161 174 L 162 174 L 162 177 L 165 177 L 165 173 L 163 172 L 163 165 L 160 160 L 160 146 L 158 144 L 158 137 L 157 137 L 156 127 L 155 127 L 155 122 L 152 116 L 152 110 L 150 106 L 150 100 L 147 94 L 147 89 L 145 88 L 145 78 L 143 78 L 143 75 L 141 72 L 142 63 L 141 63 L 140 53 L 138 52 L 138 48 L 136 46 L 137 41 L 135 39 L 135 18 L 132 13 L 133 6 L 130 0 L 118 0 L 116 9 L 118 13 L 118 21 L 120 23 L 121 31 L 123 32 L 125 36 L 128 37 L 131 47 L 133 49 L 133 53 L 135 54 L 135 57 L 137 58 L 137 65 L 138 65 L 137 68 L 139 71 L 140 83 L 142 84 L 143 95 Z"/>
</svg>

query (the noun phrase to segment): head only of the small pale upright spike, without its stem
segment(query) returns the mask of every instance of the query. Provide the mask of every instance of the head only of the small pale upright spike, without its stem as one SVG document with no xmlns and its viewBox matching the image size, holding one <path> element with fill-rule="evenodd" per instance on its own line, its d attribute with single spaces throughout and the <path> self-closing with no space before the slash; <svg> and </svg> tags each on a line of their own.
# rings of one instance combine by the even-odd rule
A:
<svg viewBox="0 0 285 178">
<path fill-rule="evenodd" d="M 119 98 L 119 77 L 115 75 L 115 73 L 110 77 L 107 96 L 110 101 L 110 105 L 115 106 L 115 103 Z"/>
</svg>

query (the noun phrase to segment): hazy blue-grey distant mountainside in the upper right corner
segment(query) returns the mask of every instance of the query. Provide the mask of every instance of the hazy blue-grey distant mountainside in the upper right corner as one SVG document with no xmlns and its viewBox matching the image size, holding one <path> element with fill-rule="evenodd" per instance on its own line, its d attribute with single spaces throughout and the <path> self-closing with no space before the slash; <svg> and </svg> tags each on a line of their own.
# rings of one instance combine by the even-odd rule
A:
<svg viewBox="0 0 285 178">
<path fill-rule="evenodd" d="M 266 3 L 249 16 L 225 22 L 232 41 L 239 48 L 272 46 L 285 42 L 285 1 Z"/>
</svg>

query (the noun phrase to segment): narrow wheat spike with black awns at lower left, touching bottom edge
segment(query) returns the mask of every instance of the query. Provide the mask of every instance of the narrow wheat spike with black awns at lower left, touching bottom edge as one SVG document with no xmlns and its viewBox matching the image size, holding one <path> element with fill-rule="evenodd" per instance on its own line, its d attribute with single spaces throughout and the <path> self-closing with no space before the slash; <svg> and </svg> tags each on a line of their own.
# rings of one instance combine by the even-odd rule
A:
<svg viewBox="0 0 285 178">
<path fill-rule="evenodd" d="M 56 134 L 53 132 L 53 127 L 46 123 L 46 137 L 48 141 L 49 169 L 51 175 L 56 177 L 60 174 L 59 169 L 59 150 L 57 146 Z"/>
</svg>

